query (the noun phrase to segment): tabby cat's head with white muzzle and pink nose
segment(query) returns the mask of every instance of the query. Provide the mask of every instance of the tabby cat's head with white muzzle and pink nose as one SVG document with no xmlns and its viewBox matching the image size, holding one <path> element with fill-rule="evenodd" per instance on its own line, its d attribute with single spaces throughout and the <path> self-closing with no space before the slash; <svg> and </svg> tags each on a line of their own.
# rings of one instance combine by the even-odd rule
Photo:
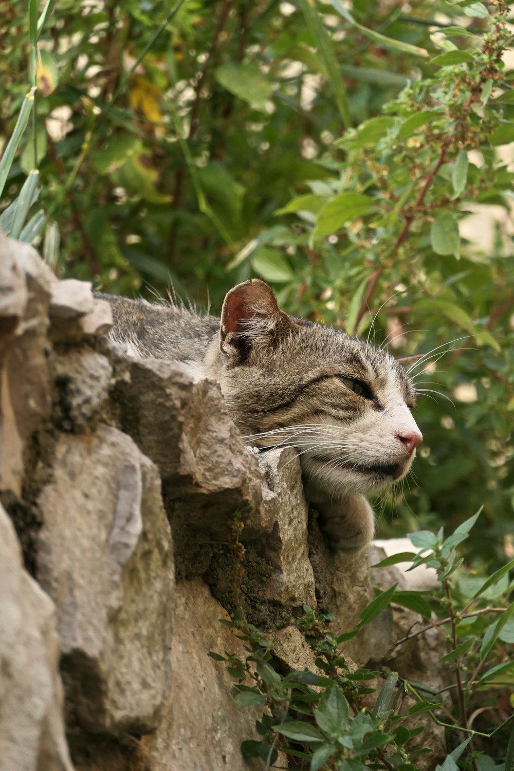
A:
<svg viewBox="0 0 514 771">
<path fill-rule="evenodd" d="M 401 360 L 288 316 L 264 281 L 227 294 L 206 364 L 248 444 L 298 449 L 314 500 L 400 480 L 422 441 Z"/>
</svg>

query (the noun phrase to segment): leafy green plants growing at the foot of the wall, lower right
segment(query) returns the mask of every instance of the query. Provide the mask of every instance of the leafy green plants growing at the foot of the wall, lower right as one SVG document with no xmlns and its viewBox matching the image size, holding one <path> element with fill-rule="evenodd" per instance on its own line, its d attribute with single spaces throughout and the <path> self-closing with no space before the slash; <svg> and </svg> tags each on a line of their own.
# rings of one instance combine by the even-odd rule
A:
<svg viewBox="0 0 514 771">
<path fill-rule="evenodd" d="M 376 566 L 406 560 L 412 561 L 412 566 L 429 565 L 437 572 L 441 592 L 430 596 L 397 591 L 396 585 L 377 591 L 361 612 L 358 625 L 338 636 L 330 631 L 329 614 L 316 615 L 304 606 L 297 626 L 314 651 L 318 671 L 305 669 L 287 675 L 274 668 L 272 642 L 247 622 L 240 605 L 244 547 L 239 542 L 237 520 L 231 548 L 236 555 L 234 594 L 238 607 L 233 618 L 223 624 L 244 641 L 247 656 L 213 651 L 210 656 L 227 662 L 237 689 L 237 705 L 263 707 L 256 724 L 261 739 L 243 742 L 245 756 L 261 759 L 266 769 L 283 768 L 275 764 L 279 756 L 287 756 L 288 768 L 305 771 L 415 771 L 419 756 L 433 752 L 419 742 L 412 748 L 412 739 L 424 731 L 424 726 L 413 726 L 413 719 L 418 723 L 419 716 L 425 715 L 427 722 L 445 728 L 448 748 L 455 748 L 442 766 L 437 766 L 441 771 L 457 771 L 459 766 L 465 771 L 483 771 L 503 759 L 496 769 L 511 771 L 514 715 L 502 718 L 500 705 L 508 701 L 514 682 L 514 602 L 509 603 L 509 570 L 514 560 L 489 577 L 462 569 L 458 547 L 478 517 L 475 514 L 447 537 L 442 528 L 437 534 L 427 530 L 411 534 L 412 544 L 418 548 L 416 554 L 397 554 Z M 449 685 L 442 690 L 409 682 L 398 672 L 352 671 L 348 667 L 341 643 L 358 635 L 390 603 L 418 611 L 427 622 L 399 641 L 400 645 L 430 628 L 444 631 L 448 653 L 439 659 L 439 665 L 447 669 L 443 679 Z M 382 682 L 380 688 L 376 687 L 377 678 Z M 472 727 L 470 719 L 477 708 L 479 712 L 485 708 L 488 715 L 477 721 L 479 728 L 474 722 Z"/>
</svg>

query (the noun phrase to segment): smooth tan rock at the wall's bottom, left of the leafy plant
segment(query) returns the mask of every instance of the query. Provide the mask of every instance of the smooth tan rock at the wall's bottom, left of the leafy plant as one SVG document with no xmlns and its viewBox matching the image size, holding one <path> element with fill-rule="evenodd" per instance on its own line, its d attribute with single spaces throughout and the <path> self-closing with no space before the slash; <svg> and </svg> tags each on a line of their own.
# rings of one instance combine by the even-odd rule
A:
<svg viewBox="0 0 514 771">
<path fill-rule="evenodd" d="M 207 655 L 224 651 L 246 658 L 240 640 L 220 618 L 228 618 L 205 584 L 196 578 L 177 585 L 171 647 L 172 685 L 163 722 L 146 740 L 152 771 L 249 771 L 240 752 L 244 739 L 258 739 L 255 721 L 262 709 L 233 704 L 223 662 Z"/>
</svg>

